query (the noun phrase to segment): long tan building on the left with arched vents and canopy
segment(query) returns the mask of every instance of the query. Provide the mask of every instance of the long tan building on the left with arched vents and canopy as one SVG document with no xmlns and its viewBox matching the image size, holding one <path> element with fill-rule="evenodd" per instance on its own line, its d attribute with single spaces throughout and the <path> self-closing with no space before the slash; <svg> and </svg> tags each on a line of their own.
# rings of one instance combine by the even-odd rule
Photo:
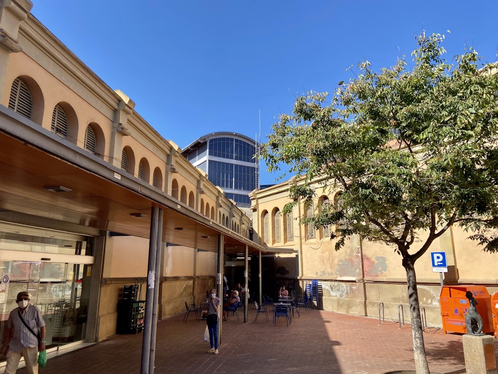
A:
<svg viewBox="0 0 498 374">
<path fill-rule="evenodd" d="M 126 285 L 141 300 L 159 289 L 162 319 L 204 301 L 219 258 L 262 248 L 250 217 L 31 7 L 0 2 L 0 313 L 3 328 L 27 289 L 57 349 L 115 334 Z"/>
</svg>

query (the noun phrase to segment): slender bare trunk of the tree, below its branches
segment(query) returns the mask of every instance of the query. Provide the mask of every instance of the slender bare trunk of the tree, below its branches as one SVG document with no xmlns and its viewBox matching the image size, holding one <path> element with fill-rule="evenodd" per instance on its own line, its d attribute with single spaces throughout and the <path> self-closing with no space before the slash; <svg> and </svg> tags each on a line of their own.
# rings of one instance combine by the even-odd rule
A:
<svg viewBox="0 0 498 374">
<path fill-rule="evenodd" d="M 406 281 L 408 285 L 408 302 L 410 305 L 411 333 L 413 338 L 413 355 L 415 357 L 415 372 L 417 374 L 429 374 L 429 365 L 425 355 L 424 337 L 422 331 L 422 318 L 420 317 L 420 306 L 418 304 L 417 277 L 415 267 L 411 259 L 403 259 L 403 267 L 406 270 Z"/>
</svg>

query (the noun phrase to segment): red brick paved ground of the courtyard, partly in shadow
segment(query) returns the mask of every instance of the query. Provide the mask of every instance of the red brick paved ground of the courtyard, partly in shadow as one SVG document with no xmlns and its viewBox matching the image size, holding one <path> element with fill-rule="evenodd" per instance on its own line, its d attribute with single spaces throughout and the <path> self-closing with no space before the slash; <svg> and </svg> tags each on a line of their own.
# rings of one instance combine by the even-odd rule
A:
<svg viewBox="0 0 498 374">
<path fill-rule="evenodd" d="M 155 374 L 162 373 L 332 373 L 382 374 L 414 370 L 411 326 L 313 310 L 291 325 L 266 323 L 254 310 L 249 322 L 231 317 L 223 323 L 220 354 L 207 354 L 205 323 L 183 314 L 157 324 Z M 429 368 L 442 374 L 465 373 L 462 336 L 440 330 L 424 334 Z M 50 358 L 40 374 L 139 374 L 142 334 L 114 336 L 104 342 Z M 498 341 L 495 340 L 498 351 Z M 18 373 L 26 373 L 19 369 Z"/>
</svg>

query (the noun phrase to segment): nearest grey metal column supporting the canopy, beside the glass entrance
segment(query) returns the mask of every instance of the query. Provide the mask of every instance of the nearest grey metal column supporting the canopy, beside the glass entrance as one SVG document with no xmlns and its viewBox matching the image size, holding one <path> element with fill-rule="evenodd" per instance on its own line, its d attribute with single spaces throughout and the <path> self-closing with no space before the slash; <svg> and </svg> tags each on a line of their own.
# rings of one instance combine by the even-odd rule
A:
<svg viewBox="0 0 498 374">
<path fill-rule="evenodd" d="M 142 360 L 140 373 L 149 374 L 150 336 L 152 327 L 152 305 L 154 302 L 154 272 L 157 247 L 159 208 L 153 207 L 150 216 L 149 261 L 147 264 L 147 292 L 145 294 L 145 316 L 143 319 Z"/>
</svg>

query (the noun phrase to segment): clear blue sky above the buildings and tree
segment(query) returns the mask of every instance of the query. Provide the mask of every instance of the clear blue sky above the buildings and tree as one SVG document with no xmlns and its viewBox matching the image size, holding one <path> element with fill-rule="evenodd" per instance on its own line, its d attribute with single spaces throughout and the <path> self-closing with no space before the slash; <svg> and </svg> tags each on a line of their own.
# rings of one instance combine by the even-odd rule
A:
<svg viewBox="0 0 498 374">
<path fill-rule="evenodd" d="M 32 13 L 165 139 L 261 141 L 306 91 L 332 93 L 365 58 L 390 67 L 414 35 L 445 34 L 447 59 L 498 48 L 498 1 L 33 0 Z M 448 33 L 450 30 L 451 33 Z M 261 165 L 261 184 L 279 175 Z M 287 177 L 286 177 L 287 178 Z"/>
</svg>

